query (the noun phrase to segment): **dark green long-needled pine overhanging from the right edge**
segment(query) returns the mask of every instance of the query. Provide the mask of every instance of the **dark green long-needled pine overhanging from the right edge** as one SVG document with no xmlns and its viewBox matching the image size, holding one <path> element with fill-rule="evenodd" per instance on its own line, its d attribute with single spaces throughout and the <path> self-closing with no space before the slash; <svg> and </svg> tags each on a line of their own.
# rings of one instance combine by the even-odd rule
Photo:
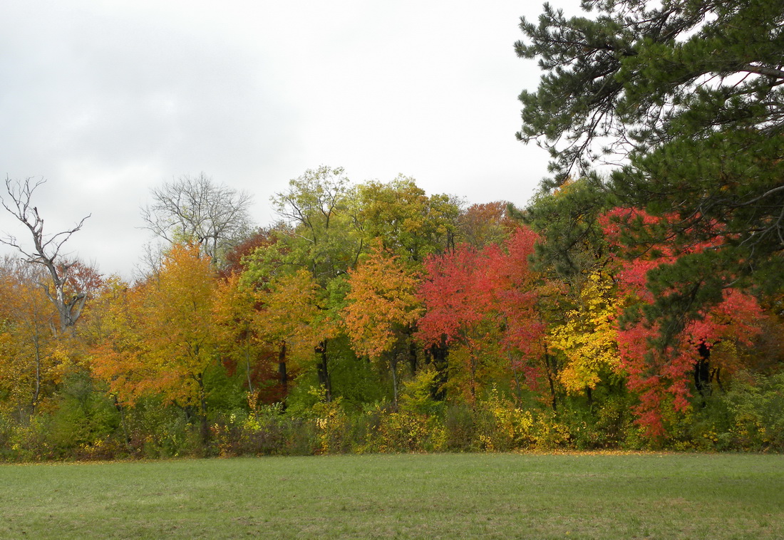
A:
<svg viewBox="0 0 784 540">
<path fill-rule="evenodd" d="M 568 19 L 545 5 L 539 24 L 521 21 L 526 39 L 516 44 L 545 71 L 535 92 L 521 93 L 518 133 L 550 150 L 555 176 L 545 187 L 622 158 L 604 187 L 621 205 L 662 218 L 644 234 L 626 223 L 630 253 L 662 241 L 680 253 L 713 244 L 648 274 L 656 295 L 648 318 L 664 321 L 665 338 L 730 284 L 780 291 L 784 4 L 582 6 L 596 16 Z"/>
</svg>

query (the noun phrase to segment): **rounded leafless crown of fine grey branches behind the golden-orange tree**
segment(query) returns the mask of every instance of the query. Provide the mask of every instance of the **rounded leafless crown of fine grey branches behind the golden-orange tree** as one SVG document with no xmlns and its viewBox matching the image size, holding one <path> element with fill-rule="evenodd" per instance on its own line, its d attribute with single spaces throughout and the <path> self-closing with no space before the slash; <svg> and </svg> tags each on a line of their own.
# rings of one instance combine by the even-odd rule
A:
<svg viewBox="0 0 784 540">
<path fill-rule="evenodd" d="M 251 230 L 251 195 L 201 172 L 180 176 L 151 190 L 154 203 L 142 208 L 145 228 L 169 242 L 195 241 L 219 264 L 223 255 Z"/>
</svg>

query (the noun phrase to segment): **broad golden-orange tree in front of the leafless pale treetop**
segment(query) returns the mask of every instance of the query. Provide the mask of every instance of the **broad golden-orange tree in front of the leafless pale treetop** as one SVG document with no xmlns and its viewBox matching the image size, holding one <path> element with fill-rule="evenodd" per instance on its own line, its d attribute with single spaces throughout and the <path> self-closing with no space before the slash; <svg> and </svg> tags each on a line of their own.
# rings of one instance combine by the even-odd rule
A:
<svg viewBox="0 0 784 540">
<path fill-rule="evenodd" d="M 158 274 L 111 294 L 109 328 L 93 353 L 96 375 L 122 402 L 158 395 L 197 411 L 206 437 L 206 376 L 218 367 L 216 278 L 209 258 L 196 245 L 173 245 Z"/>
</svg>

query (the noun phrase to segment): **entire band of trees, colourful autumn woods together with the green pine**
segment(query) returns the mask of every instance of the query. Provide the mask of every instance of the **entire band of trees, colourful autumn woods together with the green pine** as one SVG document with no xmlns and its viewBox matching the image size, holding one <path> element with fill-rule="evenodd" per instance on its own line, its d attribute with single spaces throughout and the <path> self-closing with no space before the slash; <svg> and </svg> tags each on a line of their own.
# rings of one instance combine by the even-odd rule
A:
<svg viewBox="0 0 784 540">
<path fill-rule="evenodd" d="M 129 283 L 7 180 L 5 455 L 780 450 L 784 9 L 582 8 L 521 20 L 518 136 L 553 156 L 524 208 L 322 166 L 254 229 L 184 176 Z"/>
</svg>

